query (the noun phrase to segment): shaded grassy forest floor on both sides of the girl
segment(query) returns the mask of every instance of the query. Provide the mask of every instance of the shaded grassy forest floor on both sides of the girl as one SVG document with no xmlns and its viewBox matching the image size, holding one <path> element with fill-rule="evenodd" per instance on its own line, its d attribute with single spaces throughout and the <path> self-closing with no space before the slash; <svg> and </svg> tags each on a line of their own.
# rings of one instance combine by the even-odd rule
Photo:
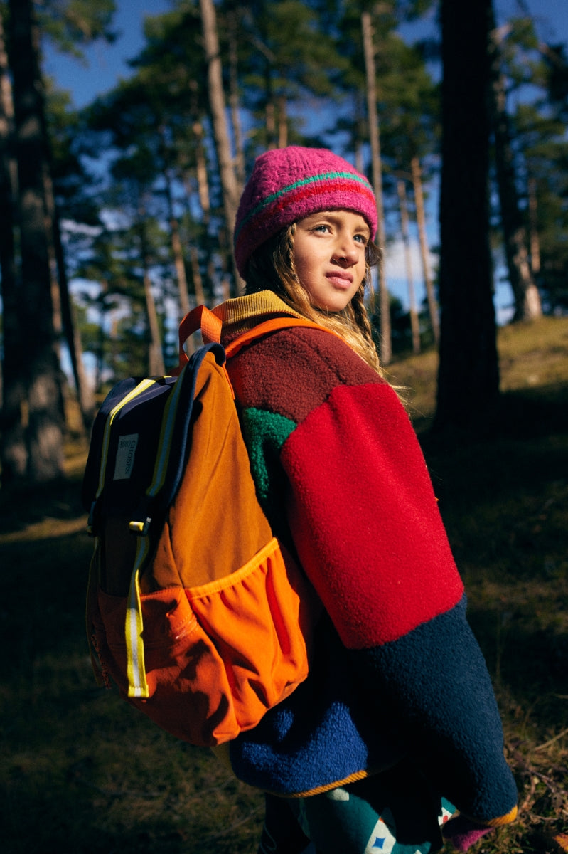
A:
<svg viewBox="0 0 568 854">
<path fill-rule="evenodd" d="M 499 331 L 484 436 L 432 423 L 437 358 L 395 362 L 466 583 L 519 787 L 519 822 L 478 854 L 568 851 L 568 319 Z M 0 491 L 0 849 L 255 854 L 263 798 L 212 755 L 95 686 L 84 635 L 91 541 L 67 482 Z"/>
</svg>

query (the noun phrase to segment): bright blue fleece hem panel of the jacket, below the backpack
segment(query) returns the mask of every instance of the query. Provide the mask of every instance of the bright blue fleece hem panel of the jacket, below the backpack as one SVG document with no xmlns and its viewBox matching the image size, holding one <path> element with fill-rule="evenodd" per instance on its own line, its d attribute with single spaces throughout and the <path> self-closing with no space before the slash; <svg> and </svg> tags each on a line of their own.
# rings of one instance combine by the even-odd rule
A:
<svg viewBox="0 0 568 854">
<path fill-rule="evenodd" d="M 322 623 L 310 679 L 229 746 L 235 775 L 252 786 L 306 793 L 366 769 L 388 768 L 404 755 L 390 706 L 368 715 L 352 653 L 327 617 Z"/>
</svg>

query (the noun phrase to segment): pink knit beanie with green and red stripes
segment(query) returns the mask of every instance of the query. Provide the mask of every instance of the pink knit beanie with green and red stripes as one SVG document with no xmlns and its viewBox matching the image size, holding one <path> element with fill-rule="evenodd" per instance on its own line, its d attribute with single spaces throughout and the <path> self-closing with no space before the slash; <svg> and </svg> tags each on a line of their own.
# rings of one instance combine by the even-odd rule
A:
<svg viewBox="0 0 568 854">
<path fill-rule="evenodd" d="M 282 228 L 317 211 L 355 211 L 377 231 L 371 185 L 351 163 L 327 149 L 289 146 L 260 155 L 254 163 L 235 219 L 235 260 L 243 278 L 252 252 Z"/>
</svg>

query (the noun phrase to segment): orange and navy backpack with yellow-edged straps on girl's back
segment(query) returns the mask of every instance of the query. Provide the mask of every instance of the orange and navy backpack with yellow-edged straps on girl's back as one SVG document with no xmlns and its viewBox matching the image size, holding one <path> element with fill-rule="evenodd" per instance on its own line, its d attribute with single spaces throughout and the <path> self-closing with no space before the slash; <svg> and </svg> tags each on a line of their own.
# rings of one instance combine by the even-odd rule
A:
<svg viewBox="0 0 568 854">
<path fill-rule="evenodd" d="M 221 321 L 194 309 L 177 371 L 119 382 L 93 425 L 83 500 L 96 679 L 194 745 L 255 727 L 308 674 L 314 594 L 258 504 L 225 368 L 292 325 L 316 326 L 269 320 L 225 353 Z"/>
</svg>

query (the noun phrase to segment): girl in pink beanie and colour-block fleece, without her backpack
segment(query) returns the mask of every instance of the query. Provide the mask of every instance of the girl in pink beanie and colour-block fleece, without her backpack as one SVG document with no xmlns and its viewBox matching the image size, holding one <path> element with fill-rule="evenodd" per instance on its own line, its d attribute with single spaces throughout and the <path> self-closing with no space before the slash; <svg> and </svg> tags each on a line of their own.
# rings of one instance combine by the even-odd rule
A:
<svg viewBox="0 0 568 854">
<path fill-rule="evenodd" d="M 444 835 L 467 851 L 517 810 L 432 484 L 371 337 L 376 227 L 347 161 L 267 152 L 236 217 L 246 295 L 214 310 L 225 344 L 272 317 L 322 327 L 229 360 L 261 504 L 322 605 L 310 675 L 228 748 L 269 793 L 261 854 L 426 854 L 451 804 Z"/>
</svg>

